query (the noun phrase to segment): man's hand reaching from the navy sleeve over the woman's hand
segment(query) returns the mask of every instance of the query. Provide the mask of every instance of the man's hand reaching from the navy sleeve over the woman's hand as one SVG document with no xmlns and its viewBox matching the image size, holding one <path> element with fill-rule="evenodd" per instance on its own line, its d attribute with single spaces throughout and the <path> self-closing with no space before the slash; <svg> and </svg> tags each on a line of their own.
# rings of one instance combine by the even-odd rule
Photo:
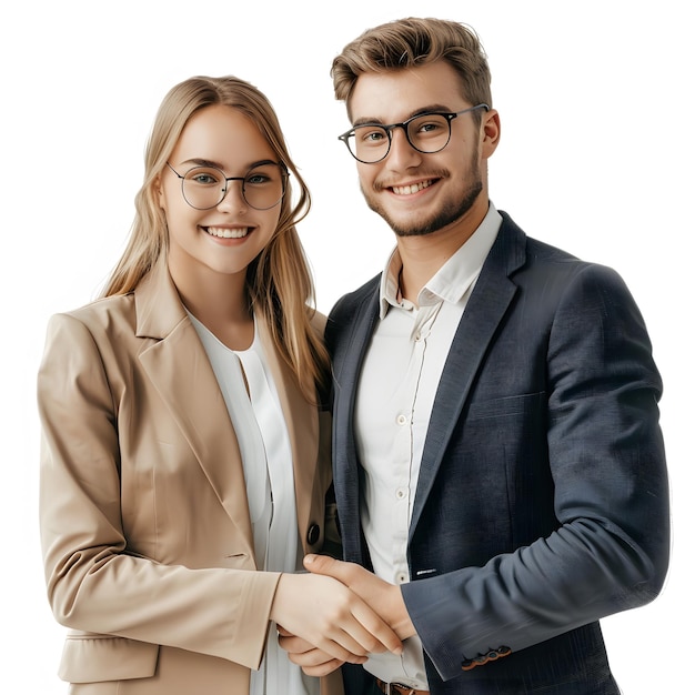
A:
<svg viewBox="0 0 695 695">
<path fill-rule="evenodd" d="M 416 634 L 401 588 L 395 584 L 380 580 L 355 563 L 341 562 L 328 555 L 306 555 L 304 567 L 313 574 L 333 577 L 348 586 L 379 613 L 401 639 Z"/>
</svg>

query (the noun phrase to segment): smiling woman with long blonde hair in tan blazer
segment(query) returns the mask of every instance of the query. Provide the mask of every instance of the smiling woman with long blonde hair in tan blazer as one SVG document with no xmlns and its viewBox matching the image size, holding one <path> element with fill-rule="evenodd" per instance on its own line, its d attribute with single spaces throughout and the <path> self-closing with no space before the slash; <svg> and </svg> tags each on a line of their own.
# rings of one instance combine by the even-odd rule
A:
<svg viewBox="0 0 695 695">
<path fill-rule="evenodd" d="M 51 319 L 41 540 L 70 693 L 318 694 L 280 627 L 336 663 L 397 647 L 342 584 L 293 574 L 324 544 L 331 482 L 309 205 L 266 98 L 187 80 L 104 296 Z"/>
</svg>

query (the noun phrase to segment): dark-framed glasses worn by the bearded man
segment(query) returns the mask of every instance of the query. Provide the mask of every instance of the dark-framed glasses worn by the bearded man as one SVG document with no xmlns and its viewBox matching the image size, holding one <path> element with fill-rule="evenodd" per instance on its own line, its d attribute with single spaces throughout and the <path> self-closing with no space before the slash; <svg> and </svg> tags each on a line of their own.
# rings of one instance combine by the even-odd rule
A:
<svg viewBox="0 0 695 695">
<path fill-rule="evenodd" d="M 339 135 L 350 154 L 364 164 L 375 164 L 391 151 L 391 140 L 393 129 L 402 128 L 410 145 L 423 154 L 432 154 L 443 150 L 451 140 L 451 122 L 462 113 L 485 109 L 490 111 L 486 103 L 479 103 L 470 109 L 443 113 L 440 111 L 419 113 L 409 118 L 402 123 L 361 123 L 351 128 L 348 132 Z"/>
</svg>

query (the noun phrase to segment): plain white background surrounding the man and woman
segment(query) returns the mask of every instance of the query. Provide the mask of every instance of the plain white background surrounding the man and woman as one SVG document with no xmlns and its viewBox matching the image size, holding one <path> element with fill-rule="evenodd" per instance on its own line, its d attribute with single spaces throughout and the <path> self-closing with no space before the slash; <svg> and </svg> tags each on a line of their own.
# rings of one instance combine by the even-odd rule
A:
<svg viewBox="0 0 695 695">
<path fill-rule="evenodd" d="M 649 606 L 603 622 L 627 695 L 689 687 L 694 381 L 693 68 L 681 0 L 339 3 L 235 0 L 6 3 L 0 19 L 0 692 L 64 693 L 62 627 L 43 588 L 36 372 L 46 323 L 93 299 L 120 255 L 154 112 L 175 82 L 234 73 L 274 103 L 314 204 L 300 232 L 318 304 L 377 272 L 393 244 L 336 135 L 332 58 L 405 16 L 472 24 L 487 50 L 502 142 L 491 198 L 531 235 L 616 268 L 665 382 L 673 561 Z M 649 523 L 645 518 L 645 523 Z M 281 695 L 281 694 L 279 694 Z"/>
</svg>

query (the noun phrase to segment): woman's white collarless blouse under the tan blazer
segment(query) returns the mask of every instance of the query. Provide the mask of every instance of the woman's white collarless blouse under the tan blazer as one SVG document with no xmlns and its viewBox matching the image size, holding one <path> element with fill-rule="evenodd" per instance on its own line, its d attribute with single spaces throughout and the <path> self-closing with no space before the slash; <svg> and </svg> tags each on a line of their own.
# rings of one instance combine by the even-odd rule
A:
<svg viewBox="0 0 695 695">
<path fill-rule="evenodd" d="M 230 350 L 190 312 L 205 348 L 241 450 L 256 567 L 302 568 L 290 435 L 275 382 L 254 331 L 249 350 Z M 245 382 L 244 382 L 245 377 Z M 248 384 L 248 391 L 246 391 Z M 269 629 L 265 655 L 251 672 L 250 695 L 319 695 L 320 682 L 290 662 Z"/>
</svg>

